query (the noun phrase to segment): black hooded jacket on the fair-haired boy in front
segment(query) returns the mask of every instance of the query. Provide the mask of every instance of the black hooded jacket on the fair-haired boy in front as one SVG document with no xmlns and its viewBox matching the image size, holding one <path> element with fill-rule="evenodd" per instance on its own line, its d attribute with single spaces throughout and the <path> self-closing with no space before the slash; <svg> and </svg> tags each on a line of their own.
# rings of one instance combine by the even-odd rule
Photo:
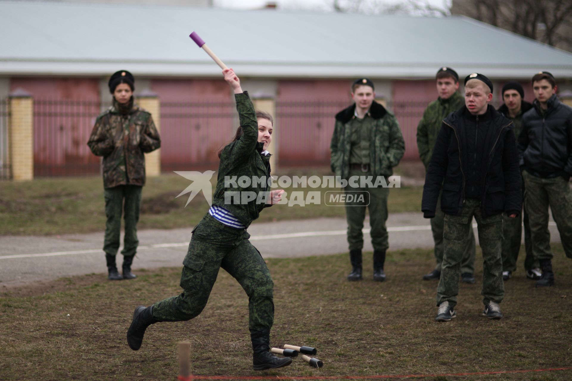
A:
<svg viewBox="0 0 572 381">
<path fill-rule="evenodd" d="M 484 217 L 502 212 L 519 214 L 522 179 L 517 145 L 511 131 L 512 122 L 490 105 L 486 116 L 479 115 L 479 119 L 463 106 L 443 120 L 423 187 L 422 211 L 425 218 L 435 216 L 441 187 L 441 210 L 446 214 L 460 215 L 467 189 L 475 185 L 478 186 Z M 481 138 L 470 139 L 467 131 L 475 129 Z M 477 150 L 482 152 L 482 166 L 476 179 L 468 173 L 469 162 L 474 158 L 469 157 L 467 148 L 467 144 L 475 141 L 479 145 Z"/>
</svg>

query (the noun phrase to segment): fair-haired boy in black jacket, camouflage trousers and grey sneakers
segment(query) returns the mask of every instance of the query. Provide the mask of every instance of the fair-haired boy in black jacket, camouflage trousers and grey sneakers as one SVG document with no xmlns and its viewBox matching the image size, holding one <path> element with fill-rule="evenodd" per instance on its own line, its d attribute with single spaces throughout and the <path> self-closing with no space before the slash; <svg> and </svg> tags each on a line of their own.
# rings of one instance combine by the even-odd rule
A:
<svg viewBox="0 0 572 381">
<path fill-rule="evenodd" d="M 483 252 L 483 315 L 502 318 L 502 212 L 515 218 L 522 206 L 512 122 L 488 104 L 492 83 L 487 77 L 473 73 L 464 83 L 465 106 L 443 120 L 423 187 L 425 218 L 435 216 L 443 189 L 444 255 L 437 287 L 438 322 L 456 316 L 460 262 L 473 217 Z"/>
</svg>

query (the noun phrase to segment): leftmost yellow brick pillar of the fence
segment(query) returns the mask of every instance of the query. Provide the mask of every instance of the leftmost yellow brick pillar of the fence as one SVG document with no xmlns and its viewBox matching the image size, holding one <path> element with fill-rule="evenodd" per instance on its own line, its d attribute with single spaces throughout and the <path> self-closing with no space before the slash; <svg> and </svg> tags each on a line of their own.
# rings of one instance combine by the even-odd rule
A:
<svg viewBox="0 0 572 381">
<path fill-rule="evenodd" d="M 10 116 L 8 143 L 12 178 L 16 181 L 34 178 L 34 101 L 23 89 L 9 94 Z"/>
</svg>

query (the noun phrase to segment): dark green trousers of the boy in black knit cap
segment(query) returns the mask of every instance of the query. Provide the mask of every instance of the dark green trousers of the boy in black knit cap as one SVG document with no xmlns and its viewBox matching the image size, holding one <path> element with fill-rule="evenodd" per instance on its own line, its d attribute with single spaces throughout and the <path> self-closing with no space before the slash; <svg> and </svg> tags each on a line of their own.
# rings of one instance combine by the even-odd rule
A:
<svg viewBox="0 0 572 381">
<path fill-rule="evenodd" d="M 525 183 L 522 183 L 522 199 L 525 198 Z M 517 270 L 518 253 L 521 250 L 522 223 L 525 224 L 525 270 L 538 268 L 538 259 L 534 259 L 532 242 L 530 239 L 529 215 L 522 212 L 517 218 L 510 218 L 503 214 L 502 225 L 502 270 Z"/>
</svg>

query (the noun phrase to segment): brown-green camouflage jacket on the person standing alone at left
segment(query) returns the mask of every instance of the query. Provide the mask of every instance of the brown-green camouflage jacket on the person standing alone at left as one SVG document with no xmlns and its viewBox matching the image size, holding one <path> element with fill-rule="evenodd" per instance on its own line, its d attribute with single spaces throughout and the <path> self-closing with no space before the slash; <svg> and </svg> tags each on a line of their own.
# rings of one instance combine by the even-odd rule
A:
<svg viewBox="0 0 572 381">
<path fill-rule="evenodd" d="M 88 146 L 102 156 L 104 188 L 145 185 L 145 155 L 161 146 L 159 133 L 148 111 L 133 105 L 113 106 L 96 119 Z"/>
</svg>

